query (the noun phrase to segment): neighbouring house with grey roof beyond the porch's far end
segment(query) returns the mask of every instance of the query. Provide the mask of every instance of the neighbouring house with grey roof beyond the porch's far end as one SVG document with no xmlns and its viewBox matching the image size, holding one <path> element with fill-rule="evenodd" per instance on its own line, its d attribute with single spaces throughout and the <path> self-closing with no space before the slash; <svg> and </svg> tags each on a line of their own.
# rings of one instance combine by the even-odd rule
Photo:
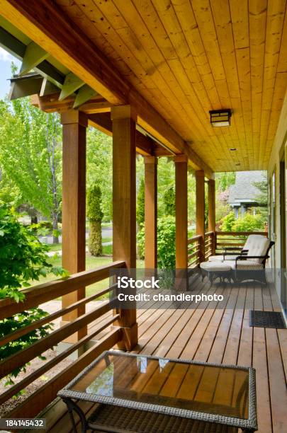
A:
<svg viewBox="0 0 287 433">
<path fill-rule="evenodd" d="M 266 180 L 264 171 L 237 171 L 235 184 L 230 185 L 228 203 L 234 209 L 235 218 L 244 215 L 250 207 L 256 207 L 260 190 L 254 185 Z"/>
</svg>

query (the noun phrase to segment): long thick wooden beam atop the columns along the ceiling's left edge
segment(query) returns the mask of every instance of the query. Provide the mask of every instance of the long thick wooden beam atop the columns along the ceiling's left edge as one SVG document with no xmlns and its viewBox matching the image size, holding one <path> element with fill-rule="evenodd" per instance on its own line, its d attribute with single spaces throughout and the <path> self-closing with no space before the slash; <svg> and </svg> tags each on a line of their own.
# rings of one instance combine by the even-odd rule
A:
<svg viewBox="0 0 287 433">
<path fill-rule="evenodd" d="M 0 0 L 0 6 L 4 18 L 50 52 L 103 98 L 114 105 L 133 105 L 137 110 L 138 123 L 154 138 L 176 154 L 196 156 L 196 161 L 189 161 L 191 166 L 203 169 L 204 165 L 206 175 L 212 175 L 210 168 L 194 151 L 189 151 L 184 139 L 162 115 L 120 76 L 99 48 L 54 3 L 48 0 Z"/>
</svg>

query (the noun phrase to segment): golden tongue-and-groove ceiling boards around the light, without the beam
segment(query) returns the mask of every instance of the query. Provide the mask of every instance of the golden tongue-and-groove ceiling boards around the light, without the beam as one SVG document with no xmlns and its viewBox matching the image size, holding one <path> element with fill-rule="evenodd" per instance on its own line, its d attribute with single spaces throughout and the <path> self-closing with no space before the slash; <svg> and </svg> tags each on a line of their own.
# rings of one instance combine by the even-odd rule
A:
<svg viewBox="0 0 287 433">
<path fill-rule="evenodd" d="M 213 171 L 267 167 L 287 83 L 285 0 L 56 3 Z M 220 108 L 230 127 L 211 127 Z"/>
</svg>

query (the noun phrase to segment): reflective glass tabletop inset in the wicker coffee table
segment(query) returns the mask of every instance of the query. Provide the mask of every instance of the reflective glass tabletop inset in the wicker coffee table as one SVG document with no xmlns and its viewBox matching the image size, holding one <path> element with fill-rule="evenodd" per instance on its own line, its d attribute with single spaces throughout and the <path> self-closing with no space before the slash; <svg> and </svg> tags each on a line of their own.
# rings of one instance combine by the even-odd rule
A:
<svg viewBox="0 0 287 433">
<path fill-rule="evenodd" d="M 249 370 L 107 352 L 70 391 L 241 418 L 249 416 Z"/>
</svg>

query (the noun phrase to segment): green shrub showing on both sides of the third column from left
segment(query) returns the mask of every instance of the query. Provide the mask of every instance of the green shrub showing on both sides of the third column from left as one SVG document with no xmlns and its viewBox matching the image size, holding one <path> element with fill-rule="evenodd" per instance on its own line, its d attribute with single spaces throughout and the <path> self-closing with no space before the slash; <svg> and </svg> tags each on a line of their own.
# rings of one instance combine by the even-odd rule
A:
<svg viewBox="0 0 287 433">
<path fill-rule="evenodd" d="M 145 258 L 145 227 L 137 233 L 137 247 L 140 258 Z M 175 268 L 175 219 L 162 217 L 157 220 L 157 267 Z"/>
</svg>

